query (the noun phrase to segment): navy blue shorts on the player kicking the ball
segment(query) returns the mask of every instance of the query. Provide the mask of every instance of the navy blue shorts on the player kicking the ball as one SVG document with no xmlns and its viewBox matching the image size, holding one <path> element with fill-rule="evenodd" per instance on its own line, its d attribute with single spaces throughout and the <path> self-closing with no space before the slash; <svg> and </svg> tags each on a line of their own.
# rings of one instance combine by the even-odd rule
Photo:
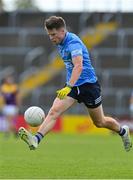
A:
<svg viewBox="0 0 133 180">
<path fill-rule="evenodd" d="M 84 103 L 88 108 L 96 108 L 102 103 L 101 87 L 97 82 L 74 86 L 68 96 Z"/>
</svg>

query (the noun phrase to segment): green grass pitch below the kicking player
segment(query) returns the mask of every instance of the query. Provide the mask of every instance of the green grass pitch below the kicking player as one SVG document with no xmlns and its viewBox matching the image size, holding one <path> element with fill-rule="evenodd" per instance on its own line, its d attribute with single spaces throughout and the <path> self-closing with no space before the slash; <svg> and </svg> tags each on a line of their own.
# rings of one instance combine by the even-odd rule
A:
<svg viewBox="0 0 133 180">
<path fill-rule="evenodd" d="M 132 179 L 133 151 L 119 136 L 50 134 L 36 151 L 0 135 L 0 178 Z"/>
</svg>

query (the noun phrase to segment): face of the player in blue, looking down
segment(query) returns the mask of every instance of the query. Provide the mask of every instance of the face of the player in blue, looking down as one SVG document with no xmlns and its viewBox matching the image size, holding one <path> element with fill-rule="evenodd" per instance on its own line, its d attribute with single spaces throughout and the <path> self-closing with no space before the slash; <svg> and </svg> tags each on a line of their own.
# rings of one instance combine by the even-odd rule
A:
<svg viewBox="0 0 133 180">
<path fill-rule="evenodd" d="M 65 37 L 65 29 L 64 28 L 60 28 L 60 29 L 52 29 L 52 30 L 49 30 L 49 29 L 46 29 L 47 31 L 47 34 L 51 40 L 51 42 L 53 44 L 60 44 L 62 42 L 62 40 L 64 39 Z"/>
</svg>

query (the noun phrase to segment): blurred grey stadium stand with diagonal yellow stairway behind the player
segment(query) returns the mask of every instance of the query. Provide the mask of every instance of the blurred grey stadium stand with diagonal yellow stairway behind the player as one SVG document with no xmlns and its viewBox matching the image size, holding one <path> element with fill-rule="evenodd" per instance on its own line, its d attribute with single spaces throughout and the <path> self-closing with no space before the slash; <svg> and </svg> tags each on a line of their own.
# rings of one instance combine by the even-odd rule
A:
<svg viewBox="0 0 133 180">
<path fill-rule="evenodd" d="M 64 66 L 43 27 L 45 18 L 57 15 L 66 20 L 68 30 L 78 34 L 91 52 L 102 85 L 105 113 L 119 119 L 130 118 L 131 0 L 113 3 L 102 0 L 97 5 L 96 1 L 78 0 L 75 7 L 63 0 L 45 1 L 44 7 L 42 1 L 0 2 L 0 81 L 7 74 L 15 74 L 23 98 L 21 114 L 31 105 L 41 106 L 48 112 L 56 90 L 64 85 Z M 87 112 L 84 106 L 76 105 L 67 114 L 86 115 Z"/>
</svg>

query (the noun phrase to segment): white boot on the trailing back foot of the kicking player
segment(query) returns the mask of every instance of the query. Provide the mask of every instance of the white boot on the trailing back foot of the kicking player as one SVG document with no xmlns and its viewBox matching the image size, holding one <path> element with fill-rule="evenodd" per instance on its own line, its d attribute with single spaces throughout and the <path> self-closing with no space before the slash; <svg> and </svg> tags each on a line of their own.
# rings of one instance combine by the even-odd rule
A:
<svg viewBox="0 0 133 180">
<path fill-rule="evenodd" d="M 128 152 L 132 147 L 132 141 L 130 137 L 129 127 L 127 125 L 122 126 L 126 130 L 126 133 L 121 136 L 125 150 Z"/>
</svg>

